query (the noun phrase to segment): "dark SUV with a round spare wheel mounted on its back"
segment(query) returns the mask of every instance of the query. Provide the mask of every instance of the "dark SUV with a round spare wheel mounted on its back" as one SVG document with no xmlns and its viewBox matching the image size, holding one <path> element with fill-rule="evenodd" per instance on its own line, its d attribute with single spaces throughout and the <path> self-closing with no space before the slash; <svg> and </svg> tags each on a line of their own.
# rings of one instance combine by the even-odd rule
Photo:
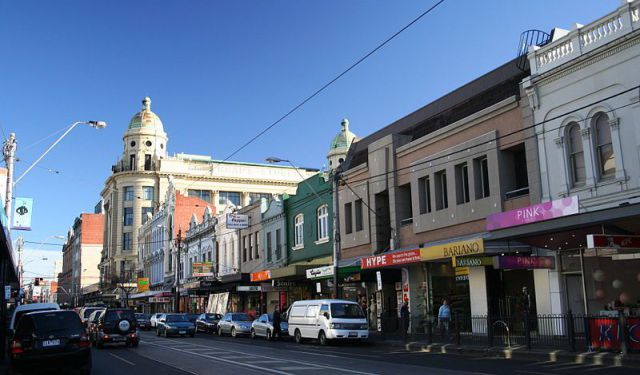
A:
<svg viewBox="0 0 640 375">
<path fill-rule="evenodd" d="M 108 308 L 98 320 L 96 347 L 102 349 L 104 344 L 110 343 L 136 347 L 140 343 L 137 327 L 136 317 L 131 309 Z"/>
</svg>

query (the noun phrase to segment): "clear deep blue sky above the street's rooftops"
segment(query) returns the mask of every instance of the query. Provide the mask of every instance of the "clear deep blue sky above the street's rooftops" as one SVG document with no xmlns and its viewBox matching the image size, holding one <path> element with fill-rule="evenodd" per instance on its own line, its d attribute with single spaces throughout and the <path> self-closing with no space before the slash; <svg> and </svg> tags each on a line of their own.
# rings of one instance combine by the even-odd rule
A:
<svg viewBox="0 0 640 375">
<path fill-rule="evenodd" d="M 92 211 L 144 96 L 170 153 L 223 159 L 434 2 L 1 2 L 0 127 L 18 138 L 17 174 L 56 137 L 43 138 L 109 123 L 76 128 L 19 183 L 34 198 L 22 234 L 60 242 Z M 343 117 L 366 136 L 514 58 L 523 30 L 586 24 L 619 3 L 447 0 L 233 159 L 322 167 Z M 35 248 L 51 256 L 25 268 L 50 273 L 60 248 Z"/>
</svg>

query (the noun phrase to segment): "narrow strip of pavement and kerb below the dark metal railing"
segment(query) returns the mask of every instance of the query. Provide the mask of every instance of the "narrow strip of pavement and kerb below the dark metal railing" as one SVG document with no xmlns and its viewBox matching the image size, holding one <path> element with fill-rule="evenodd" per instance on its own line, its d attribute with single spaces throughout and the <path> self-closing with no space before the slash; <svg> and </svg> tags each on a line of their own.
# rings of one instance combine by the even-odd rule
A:
<svg viewBox="0 0 640 375">
<path fill-rule="evenodd" d="M 411 352 L 458 354 L 477 357 L 499 357 L 506 359 L 538 361 L 538 362 L 563 362 L 576 364 L 593 364 L 600 366 L 626 366 L 640 368 L 640 354 L 619 354 L 607 352 L 569 352 L 557 349 L 531 349 L 523 346 L 486 347 L 475 345 L 460 345 L 450 343 L 432 343 L 426 341 L 412 341 L 406 343 L 397 335 L 382 338 L 378 335 L 370 335 L 371 345 L 403 348 Z"/>
</svg>

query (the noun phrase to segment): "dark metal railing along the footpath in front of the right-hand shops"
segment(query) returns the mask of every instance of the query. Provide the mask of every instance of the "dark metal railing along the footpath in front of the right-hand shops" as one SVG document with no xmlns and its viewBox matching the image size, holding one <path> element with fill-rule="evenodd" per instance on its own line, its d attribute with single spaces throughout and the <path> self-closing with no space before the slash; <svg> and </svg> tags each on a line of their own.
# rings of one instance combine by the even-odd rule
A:
<svg viewBox="0 0 640 375">
<path fill-rule="evenodd" d="M 528 349 L 640 352 L 640 317 L 574 315 L 454 315 L 449 324 L 436 318 L 412 319 L 411 338 L 429 343 L 521 346 Z"/>
</svg>

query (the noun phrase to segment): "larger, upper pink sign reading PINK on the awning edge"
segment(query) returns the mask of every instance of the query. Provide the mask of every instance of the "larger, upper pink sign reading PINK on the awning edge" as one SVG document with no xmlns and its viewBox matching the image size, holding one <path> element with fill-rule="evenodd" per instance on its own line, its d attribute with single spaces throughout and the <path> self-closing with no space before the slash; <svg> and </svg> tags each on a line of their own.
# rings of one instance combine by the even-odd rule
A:
<svg viewBox="0 0 640 375">
<path fill-rule="evenodd" d="M 486 225 L 487 230 L 496 230 L 574 215 L 579 211 L 578 197 L 573 196 L 489 215 Z"/>
</svg>

